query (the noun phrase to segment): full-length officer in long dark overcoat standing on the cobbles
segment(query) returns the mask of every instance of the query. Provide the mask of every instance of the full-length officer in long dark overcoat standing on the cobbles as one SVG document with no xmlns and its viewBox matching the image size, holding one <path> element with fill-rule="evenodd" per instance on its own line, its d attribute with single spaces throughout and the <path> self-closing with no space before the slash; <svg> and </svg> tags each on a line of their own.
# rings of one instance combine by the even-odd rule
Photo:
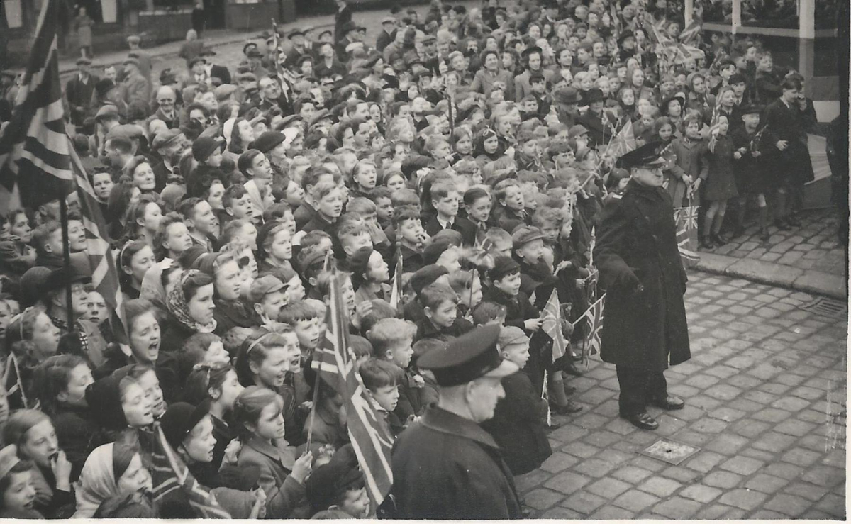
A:
<svg viewBox="0 0 851 524">
<path fill-rule="evenodd" d="M 607 290 L 600 357 L 617 367 L 620 416 L 643 430 L 659 427 L 648 403 L 682 409 L 663 372 L 691 358 L 683 294 L 688 277 L 665 180 L 660 142 L 620 158 L 631 179 L 603 209 L 594 259 Z"/>
</svg>

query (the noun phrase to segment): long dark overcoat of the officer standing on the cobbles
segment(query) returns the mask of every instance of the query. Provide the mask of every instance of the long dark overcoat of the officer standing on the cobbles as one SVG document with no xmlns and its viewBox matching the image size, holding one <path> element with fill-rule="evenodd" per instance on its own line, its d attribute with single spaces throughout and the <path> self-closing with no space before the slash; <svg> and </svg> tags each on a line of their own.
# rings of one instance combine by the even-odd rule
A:
<svg viewBox="0 0 851 524">
<path fill-rule="evenodd" d="M 688 276 L 667 191 L 631 180 L 603 210 L 594 260 L 607 289 L 603 362 L 661 372 L 691 358 Z"/>
</svg>

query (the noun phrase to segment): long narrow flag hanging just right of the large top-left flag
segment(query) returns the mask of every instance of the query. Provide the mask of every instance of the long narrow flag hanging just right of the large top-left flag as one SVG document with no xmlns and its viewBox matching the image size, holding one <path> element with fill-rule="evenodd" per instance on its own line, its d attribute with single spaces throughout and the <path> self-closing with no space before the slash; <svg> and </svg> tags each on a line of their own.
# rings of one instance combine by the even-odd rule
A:
<svg viewBox="0 0 851 524">
<path fill-rule="evenodd" d="M 66 138 L 67 140 L 67 138 Z M 68 140 L 70 143 L 70 140 Z M 115 257 L 109 244 L 109 234 L 106 220 L 100 213 L 100 206 L 94 196 L 94 188 L 89 180 L 89 174 L 83 168 L 77 151 L 71 147 L 71 170 L 77 184 L 77 196 L 80 200 L 80 214 L 83 217 L 83 229 L 86 231 L 86 251 L 89 255 L 89 265 L 92 269 L 92 285 L 106 301 L 107 308 L 112 311 L 110 318 L 112 333 L 119 342 L 126 341 L 124 324 L 123 295 L 118 281 L 118 271 Z"/>
</svg>

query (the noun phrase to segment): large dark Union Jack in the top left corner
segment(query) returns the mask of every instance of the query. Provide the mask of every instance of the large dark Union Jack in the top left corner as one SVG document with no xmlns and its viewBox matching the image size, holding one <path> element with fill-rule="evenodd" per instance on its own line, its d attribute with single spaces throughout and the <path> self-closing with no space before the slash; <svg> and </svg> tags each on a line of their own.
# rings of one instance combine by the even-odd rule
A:
<svg viewBox="0 0 851 524">
<path fill-rule="evenodd" d="M 60 0 L 38 17 L 12 120 L 0 136 L 0 208 L 37 207 L 71 192 L 71 149 L 59 77 L 56 29 Z"/>
</svg>

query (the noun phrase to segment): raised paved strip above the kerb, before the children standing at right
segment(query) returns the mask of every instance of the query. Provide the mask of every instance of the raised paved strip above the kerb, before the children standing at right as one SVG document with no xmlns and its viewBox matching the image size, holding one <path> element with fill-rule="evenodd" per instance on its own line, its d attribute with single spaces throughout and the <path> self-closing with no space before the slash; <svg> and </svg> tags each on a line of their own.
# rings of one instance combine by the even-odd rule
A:
<svg viewBox="0 0 851 524">
<path fill-rule="evenodd" d="M 740 259 L 762 260 L 808 271 L 843 274 L 842 245 L 837 242 L 837 212 L 834 208 L 816 209 L 802 214 L 802 226 L 792 231 L 768 228 L 768 242 L 759 239 L 759 227 L 751 224 L 745 235 L 730 239 L 711 253 Z M 729 234 L 728 234 L 729 236 Z"/>
</svg>

